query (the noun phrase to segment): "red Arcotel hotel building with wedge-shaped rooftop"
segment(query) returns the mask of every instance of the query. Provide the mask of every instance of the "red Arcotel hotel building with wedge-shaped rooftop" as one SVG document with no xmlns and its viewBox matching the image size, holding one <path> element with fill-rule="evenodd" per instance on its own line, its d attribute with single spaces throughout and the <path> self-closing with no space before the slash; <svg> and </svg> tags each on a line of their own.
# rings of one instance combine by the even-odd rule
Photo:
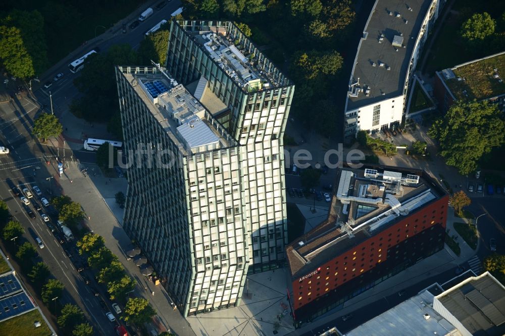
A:
<svg viewBox="0 0 505 336">
<path fill-rule="evenodd" d="M 297 325 L 443 248 L 448 195 L 423 171 L 343 169 L 328 219 L 287 248 Z"/>
</svg>

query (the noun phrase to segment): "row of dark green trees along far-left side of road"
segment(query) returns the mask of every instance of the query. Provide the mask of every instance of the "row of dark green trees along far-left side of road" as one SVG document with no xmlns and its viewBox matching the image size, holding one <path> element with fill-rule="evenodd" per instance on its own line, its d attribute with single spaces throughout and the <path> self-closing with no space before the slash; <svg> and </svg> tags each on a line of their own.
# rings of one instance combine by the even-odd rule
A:
<svg viewBox="0 0 505 336">
<path fill-rule="evenodd" d="M 0 201 L 0 219 L 2 222 L 8 217 L 9 210 L 4 201 Z M 48 279 L 51 276 L 49 267 L 41 261 L 34 262 L 37 250 L 28 241 L 21 245 L 16 245 L 16 241 L 23 239 L 25 230 L 20 222 L 10 220 L 2 229 L 2 238 L 6 242 L 12 241 L 12 252 L 19 261 L 19 265 L 26 272 L 28 279 L 34 290 L 40 295 L 42 302 L 56 313 L 57 303 L 63 298 L 64 285 L 58 279 Z M 86 322 L 82 310 L 73 304 L 66 304 L 58 316 L 58 325 L 65 331 L 65 334 L 74 336 L 92 336 L 94 334 L 92 326 Z"/>
</svg>

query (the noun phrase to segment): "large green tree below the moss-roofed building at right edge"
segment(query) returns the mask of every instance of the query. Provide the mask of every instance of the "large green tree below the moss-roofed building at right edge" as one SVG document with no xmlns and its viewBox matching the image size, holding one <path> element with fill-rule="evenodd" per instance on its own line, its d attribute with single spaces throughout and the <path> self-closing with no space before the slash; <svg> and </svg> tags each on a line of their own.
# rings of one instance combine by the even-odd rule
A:
<svg viewBox="0 0 505 336">
<path fill-rule="evenodd" d="M 503 143 L 504 131 L 497 105 L 458 100 L 443 119 L 433 123 L 428 135 L 439 141 L 445 163 L 457 167 L 461 175 L 468 175 L 477 169 L 483 154 Z"/>
</svg>

